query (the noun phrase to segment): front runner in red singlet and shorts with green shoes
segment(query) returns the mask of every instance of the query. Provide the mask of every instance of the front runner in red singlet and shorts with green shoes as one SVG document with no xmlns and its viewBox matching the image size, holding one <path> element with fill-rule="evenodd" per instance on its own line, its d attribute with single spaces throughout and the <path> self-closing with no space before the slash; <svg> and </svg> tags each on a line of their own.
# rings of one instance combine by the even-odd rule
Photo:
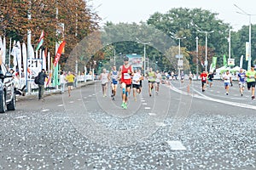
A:
<svg viewBox="0 0 256 170">
<path fill-rule="evenodd" d="M 121 82 L 122 88 L 122 107 L 127 109 L 127 101 L 128 101 L 128 94 L 130 93 L 131 89 L 131 76 L 133 75 L 132 66 L 129 65 L 129 58 L 125 56 L 124 58 L 124 65 L 121 65 L 119 68 L 119 79 Z"/>
</svg>

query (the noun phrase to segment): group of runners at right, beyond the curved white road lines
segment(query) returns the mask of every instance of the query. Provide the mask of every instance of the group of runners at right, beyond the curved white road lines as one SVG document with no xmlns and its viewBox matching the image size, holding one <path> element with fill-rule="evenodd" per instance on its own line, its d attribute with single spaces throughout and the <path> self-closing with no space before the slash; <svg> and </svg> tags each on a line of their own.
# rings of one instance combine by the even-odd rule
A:
<svg viewBox="0 0 256 170">
<path fill-rule="evenodd" d="M 237 80 L 239 84 L 239 91 L 241 96 L 243 96 L 244 89 L 247 86 L 248 90 L 251 90 L 252 99 L 255 99 L 255 79 L 256 79 L 256 71 L 254 71 L 255 65 L 251 65 L 251 69 L 249 71 L 244 71 L 242 68 L 240 69 L 239 73 L 237 74 Z M 202 92 L 206 89 L 206 84 L 210 85 L 210 88 L 212 87 L 212 80 L 213 80 L 213 73 L 210 72 L 209 74 L 206 73 L 206 71 L 203 71 L 201 73 L 201 89 Z M 224 88 L 225 88 L 225 94 L 229 95 L 230 86 L 233 86 L 232 83 L 232 75 L 230 74 L 230 71 L 225 71 L 223 75 L 224 80 Z"/>
</svg>

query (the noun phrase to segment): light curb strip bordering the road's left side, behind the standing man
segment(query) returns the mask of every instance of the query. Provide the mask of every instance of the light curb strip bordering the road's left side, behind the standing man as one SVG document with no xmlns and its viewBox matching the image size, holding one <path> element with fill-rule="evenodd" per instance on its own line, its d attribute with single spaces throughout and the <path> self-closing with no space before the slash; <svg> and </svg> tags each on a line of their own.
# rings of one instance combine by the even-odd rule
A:
<svg viewBox="0 0 256 170">
<path fill-rule="evenodd" d="M 90 81 L 90 82 L 81 82 L 78 84 L 77 88 L 84 88 L 88 85 L 94 84 L 96 81 Z M 77 88 L 73 88 L 73 90 L 76 90 Z M 67 90 L 65 90 L 67 91 Z M 55 95 L 55 94 L 61 94 L 61 90 L 55 91 L 55 92 L 44 92 L 44 98 Z M 38 99 L 38 93 L 37 94 L 26 94 L 25 96 L 16 96 L 16 101 L 24 101 L 28 99 Z"/>
</svg>

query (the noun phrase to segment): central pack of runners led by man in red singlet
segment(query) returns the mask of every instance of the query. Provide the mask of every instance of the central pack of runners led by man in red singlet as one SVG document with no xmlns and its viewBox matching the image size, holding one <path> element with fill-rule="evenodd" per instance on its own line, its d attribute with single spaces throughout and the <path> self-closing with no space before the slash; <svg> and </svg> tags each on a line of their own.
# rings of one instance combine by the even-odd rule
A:
<svg viewBox="0 0 256 170">
<path fill-rule="evenodd" d="M 155 93 L 158 95 L 161 82 L 160 71 L 154 72 L 152 68 L 149 68 L 149 71 L 145 77 L 148 79 L 149 97 L 152 96 L 154 86 Z M 141 70 L 133 68 L 133 66 L 129 64 L 129 58 L 125 56 L 124 65 L 119 67 L 119 71 L 115 65 L 112 67 L 112 71 L 109 73 L 106 69 L 103 69 L 102 74 L 100 75 L 100 80 L 102 82 L 103 97 L 107 97 L 108 82 L 111 82 L 111 99 L 113 100 L 115 100 L 118 84 L 120 84 L 122 97 L 121 107 L 127 109 L 127 101 L 128 96 L 131 93 L 131 89 L 133 91 L 133 98 L 135 101 L 137 101 L 137 94 L 141 94 L 142 92 L 144 77 Z"/>
</svg>

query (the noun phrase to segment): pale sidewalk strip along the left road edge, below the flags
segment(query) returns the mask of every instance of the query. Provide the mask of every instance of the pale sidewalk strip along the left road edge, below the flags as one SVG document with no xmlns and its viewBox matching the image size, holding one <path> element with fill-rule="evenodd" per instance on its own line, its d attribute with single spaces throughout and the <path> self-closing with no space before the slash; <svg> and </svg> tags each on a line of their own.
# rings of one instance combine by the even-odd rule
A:
<svg viewBox="0 0 256 170">
<path fill-rule="evenodd" d="M 94 84 L 96 81 L 88 81 L 88 82 L 78 82 L 77 88 L 82 88 L 90 84 Z M 73 90 L 77 89 L 73 88 Z M 67 91 L 67 87 L 65 87 L 65 92 Z M 49 89 L 47 91 L 44 91 L 44 98 L 47 96 L 53 95 L 53 94 L 61 94 L 61 89 Z M 38 91 L 33 92 L 32 94 L 27 94 L 25 96 L 22 95 L 16 95 L 16 101 L 22 101 L 26 99 L 38 99 Z"/>
</svg>

